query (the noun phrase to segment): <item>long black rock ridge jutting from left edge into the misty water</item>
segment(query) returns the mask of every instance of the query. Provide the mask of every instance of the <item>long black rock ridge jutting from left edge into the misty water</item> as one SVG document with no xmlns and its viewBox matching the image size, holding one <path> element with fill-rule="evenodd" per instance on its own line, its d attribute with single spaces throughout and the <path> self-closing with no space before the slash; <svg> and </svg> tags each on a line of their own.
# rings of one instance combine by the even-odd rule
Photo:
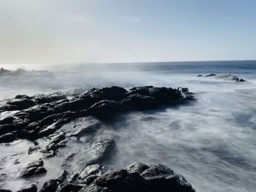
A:
<svg viewBox="0 0 256 192">
<path fill-rule="evenodd" d="M 12 142 L 15 139 L 34 141 L 49 137 L 71 120 L 89 115 L 103 119 L 111 118 L 120 112 L 154 110 L 157 107 L 184 104 L 193 99 L 193 93 L 187 88 L 154 88 L 153 86 L 135 87 L 129 90 L 116 86 L 91 88 L 72 99 L 67 99 L 63 93 L 18 95 L 15 99 L 5 99 L 0 102 L 0 112 L 18 110 L 12 116 L 0 120 L 0 142 Z M 61 142 L 65 138 L 64 135 L 61 138 L 51 135 L 50 138 L 47 141 L 48 151 L 54 150 L 56 146 L 64 146 Z"/>
</svg>

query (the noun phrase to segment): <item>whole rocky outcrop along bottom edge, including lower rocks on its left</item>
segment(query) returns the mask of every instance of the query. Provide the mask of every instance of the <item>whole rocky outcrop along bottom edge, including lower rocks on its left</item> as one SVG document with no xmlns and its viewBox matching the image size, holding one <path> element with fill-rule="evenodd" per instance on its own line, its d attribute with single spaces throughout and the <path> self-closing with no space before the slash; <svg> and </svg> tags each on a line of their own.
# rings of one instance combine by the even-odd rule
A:
<svg viewBox="0 0 256 192">
<path fill-rule="evenodd" d="M 64 180 L 53 179 L 45 182 L 39 191 L 194 192 L 195 189 L 167 166 L 135 163 L 119 170 L 107 169 L 99 164 L 90 165 L 80 172 L 76 183 L 69 182 L 66 177 Z"/>
</svg>

